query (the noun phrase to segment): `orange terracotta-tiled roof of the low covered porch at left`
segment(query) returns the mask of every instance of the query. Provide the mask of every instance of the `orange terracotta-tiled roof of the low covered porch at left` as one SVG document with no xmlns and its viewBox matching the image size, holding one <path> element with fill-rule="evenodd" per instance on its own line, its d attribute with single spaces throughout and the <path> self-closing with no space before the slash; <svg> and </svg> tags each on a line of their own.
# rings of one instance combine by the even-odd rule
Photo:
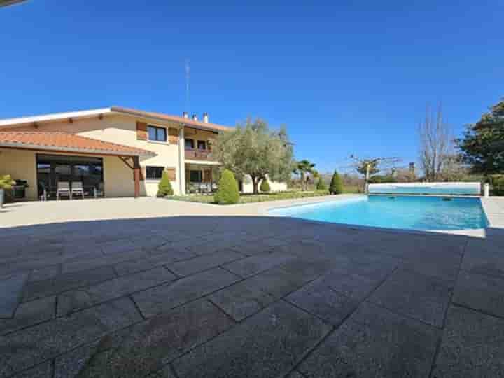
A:
<svg viewBox="0 0 504 378">
<path fill-rule="evenodd" d="M 155 156 L 142 148 L 65 132 L 0 132 L 0 148 L 113 156 Z"/>
</svg>

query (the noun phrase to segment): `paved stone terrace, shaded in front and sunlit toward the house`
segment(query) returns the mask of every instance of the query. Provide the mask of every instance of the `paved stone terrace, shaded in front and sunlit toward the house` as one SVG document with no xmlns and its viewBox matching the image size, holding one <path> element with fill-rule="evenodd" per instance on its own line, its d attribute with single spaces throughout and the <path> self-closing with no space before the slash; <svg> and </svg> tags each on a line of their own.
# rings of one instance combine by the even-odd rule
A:
<svg viewBox="0 0 504 378">
<path fill-rule="evenodd" d="M 279 202 L 10 205 L 0 377 L 502 377 L 484 202 L 484 238 L 260 215 Z"/>
</svg>

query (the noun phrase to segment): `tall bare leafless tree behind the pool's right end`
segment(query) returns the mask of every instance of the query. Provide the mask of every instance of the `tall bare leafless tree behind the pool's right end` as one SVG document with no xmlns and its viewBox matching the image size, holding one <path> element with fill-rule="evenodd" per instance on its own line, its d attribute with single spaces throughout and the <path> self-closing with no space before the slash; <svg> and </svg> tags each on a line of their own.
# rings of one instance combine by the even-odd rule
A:
<svg viewBox="0 0 504 378">
<path fill-rule="evenodd" d="M 420 163 L 426 181 L 442 179 L 444 166 L 454 153 L 454 138 L 449 125 L 444 122 L 442 106 L 437 105 L 435 115 L 426 108 L 425 120 L 419 125 Z"/>
</svg>

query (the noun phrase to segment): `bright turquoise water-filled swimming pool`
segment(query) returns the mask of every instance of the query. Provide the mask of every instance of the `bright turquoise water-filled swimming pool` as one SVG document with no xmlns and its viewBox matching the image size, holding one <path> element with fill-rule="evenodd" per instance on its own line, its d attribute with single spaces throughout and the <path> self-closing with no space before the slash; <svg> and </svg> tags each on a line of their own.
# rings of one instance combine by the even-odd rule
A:
<svg viewBox="0 0 504 378">
<path fill-rule="evenodd" d="M 479 198 L 372 195 L 272 209 L 269 214 L 408 230 L 470 230 L 488 224 Z"/>
</svg>

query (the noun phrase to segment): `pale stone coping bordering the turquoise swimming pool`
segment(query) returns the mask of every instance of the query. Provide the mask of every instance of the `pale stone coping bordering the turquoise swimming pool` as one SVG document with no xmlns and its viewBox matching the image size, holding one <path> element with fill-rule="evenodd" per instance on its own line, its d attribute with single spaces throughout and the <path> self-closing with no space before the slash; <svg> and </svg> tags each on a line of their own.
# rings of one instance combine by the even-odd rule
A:
<svg viewBox="0 0 504 378">
<path fill-rule="evenodd" d="M 377 194 L 372 194 L 376 196 Z M 389 195 L 389 194 L 382 194 L 382 195 Z M 286 218 L 293 218 L 293 219 L 298 219 L 300 221 L 308 222 L 308 223 L 314 223 L 314 224 L 332 224 L 332 225 L 338 225 L 339 227 L 346 227 L 351 230 L 377 230 L 377 231 L 384 231 L 384 232 L 400 232 L 400 233 L 409 233 L 409 234 L 421 234 L 421 235 L 433 235 L 433 234 L 439 234 L 439 235 L 461 235 L 461 236 L 470 236 L 470 237 L 486 237 L 489 229 L 493 228 L 504 228 L 504 209 L 501 209 L 498 207 L 497 204 L 491 201 L 484 201 L 487 200 L 491 197 L 482 197 L 482 196 L 476 196 L 476 195 L 429 195 L 428 197 L 457 197 L 457 198 L 479 198 L 482 209 L 483 209 L 483 214 L 486 217 L 486 221 L 488 225 L 486 228 L 472 228 L 472 229 L 463 229 L 463 230 L 412 230 L 409 228 L 386 228 L 386 227 L 379 227 L 379 226 L 369 226 L 369 225 L 352 225 L 349 223 L 336 223 L 336 222 L 325 222 L 325 221 L 314 221 L 311 219 L 303 219 L 303 218 L 296 218 L 294 216 L 290 215 L 282 215 L 282 214 L 273 214 L 271 211 L 274 210 L 279 210 L 279 209 L 288 209 L 288 208 L 293 208 L 293 207 L 304 207 L 304 206 L 310 206 L 310 205 L 317 205 L 317 204 L 327 204 L 328 202 L 353 202 L 353 200 L 358 200 L 363 197 L 367 197 L 368 195 L 358 195 L 356 197 L 345 197 L 345 198 L 335 198 L 332 197 L 330 199 L 327 199 L 325 201 L 316 201 L 316 202 L 304 202 L 301 204 L 286 204 L 282 206 L 277 206 L 277 207 L 267 207 L 265 209 L 262 209 L 262 214 L 266 216 L 276 216 L 276 217 L 286 217 Z M 402 196 L 402 195 L 395 195 L 395 196 Z M 411 196 L 411 197 L 426 197 L 423 195 L 405 195 L 405 196 Z M 491 211 L 489 211 L 491 209 Z M 498 210 L 498 211 L 496 211 Z"/>
</svg>

